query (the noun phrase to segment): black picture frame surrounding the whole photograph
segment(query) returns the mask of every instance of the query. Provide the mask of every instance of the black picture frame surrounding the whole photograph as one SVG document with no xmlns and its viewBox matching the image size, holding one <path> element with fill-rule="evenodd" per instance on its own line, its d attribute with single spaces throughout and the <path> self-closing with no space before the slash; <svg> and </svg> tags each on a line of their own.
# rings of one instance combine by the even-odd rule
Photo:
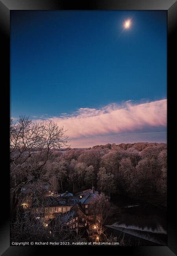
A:
<svg viewBox="0 0 177 256">
<path fill-rule="evenodd" d="M 120 255 L 128 253 L 128 255 L 136 256 L 172 256 L 177 255 L 177 232 L 175 228 L 176 211 L 176 184 L 175 173 L 173 168 L 175 163 L 174 152 L 171 149 L 173 145 L 173 135 L 175 134 L 175 126 L 170 122 L 171 110 L 175 103 L 173 94 L 173 85 L 175 85 L 175 28 L 177 24 L 177 2 L 175 0 L 112 0 L 112 1 L 83 1 L 80 4 L 76 1 L 68 3 L 66 0 L 0 0 L 0 31 L 1 31 L 1 92 L 2 99 L 2 148 L 3 148 L 3 165 L 1 169 L 1 184 L 5 184 L 4 189 L 1 186 L 1 218 L 0 226 L 0 255 L 37 255 L 42 250 L 53 253 L 58 250 L 61 253 L 61 247 L 35 247 L 22 246 L 12 247 L 9 241 L 9 113 L 10 113 L 10 11 L 11 10 L 166 10 L 168 14 L 168 246 L 157 247 L 116 247 L 116 252 Z M 2 102 L 2 100 L 1 100 Z M 172 120 L 172 119 L 171 119 Z M 174 130 L 174 133 L 173 133 Z M 5 163 L 5 164 L 4 164 Z M 175 165 L 174 165 L 175 166 Z M 104 253 L 110 252 L 115 247 L 67 247 L 71 252 L 100 253 L 100 249 Z M 64 249 L 64 248 L 62 248 Z M 66 249 L 66 247 L 65 247 Z M 98 251 L 99 250 L 99 251 Z"/>
</svg>

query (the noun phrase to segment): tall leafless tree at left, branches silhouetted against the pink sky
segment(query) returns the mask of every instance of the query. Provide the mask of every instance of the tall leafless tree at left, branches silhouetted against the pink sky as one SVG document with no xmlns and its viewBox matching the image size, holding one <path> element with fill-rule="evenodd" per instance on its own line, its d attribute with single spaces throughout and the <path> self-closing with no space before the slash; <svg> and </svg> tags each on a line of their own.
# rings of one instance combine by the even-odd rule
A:
<svg viewBox="0 0 177 256">
<path fill-rule="evenodd" d="M 53 121 L 33 122 L 20 116 L 10 121 L 11 207 L 17 208 L 22 187 L 43 179 L 43 167 L 56 148 L 67 145 L 66 130 Z"/>
</svg>

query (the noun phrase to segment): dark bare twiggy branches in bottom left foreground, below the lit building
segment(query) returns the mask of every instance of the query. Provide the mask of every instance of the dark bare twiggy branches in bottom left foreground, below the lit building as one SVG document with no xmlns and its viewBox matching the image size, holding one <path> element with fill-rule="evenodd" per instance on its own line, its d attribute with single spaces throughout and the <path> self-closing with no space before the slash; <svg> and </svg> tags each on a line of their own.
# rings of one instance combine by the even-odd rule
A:
<svg viewBox="0 0 177 256">
<path fill-rule="evenodd" d="M 78 235 L 67 225 L 70 219 L 72 219 L 72 214 L 68 212 L 59 214 L 55 219 L 46 223 L 39 213 L 32 214 L 28 210 L 23 213 L 17 211 L 17 217 L 11 223 L 11 241 L 76 241 Z"/>
</svg>

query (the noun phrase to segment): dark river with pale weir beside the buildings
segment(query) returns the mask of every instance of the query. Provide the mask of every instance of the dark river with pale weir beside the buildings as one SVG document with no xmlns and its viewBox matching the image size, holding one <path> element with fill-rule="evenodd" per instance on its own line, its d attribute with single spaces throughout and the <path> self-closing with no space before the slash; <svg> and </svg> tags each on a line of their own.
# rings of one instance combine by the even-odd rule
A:
<svg viewBox="0 0 177 256">
<path fill-rule="evenodd" d="M 120 213 L 111 217 L 107 231 L 124 234 L 130 245 L 167 245 L 166 211 L 125 196 L 113 198 L 112 202 Z"/>
</svg>

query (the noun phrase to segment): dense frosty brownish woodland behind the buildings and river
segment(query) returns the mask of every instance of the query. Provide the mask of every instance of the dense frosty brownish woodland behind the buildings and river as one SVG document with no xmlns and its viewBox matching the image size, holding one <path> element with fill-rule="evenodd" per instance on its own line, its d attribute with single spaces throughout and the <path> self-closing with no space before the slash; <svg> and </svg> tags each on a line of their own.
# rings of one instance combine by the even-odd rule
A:
<svg viewBox="0 0 177 256">
<path fill-rule="evenodd" d="M 166 206 L 165 144 L 96 146 L 90 150 L 54 152 L 45 166 L 53 190 L 73 193 L 95 186 L 106 195 L 129 197 Z"/>
</svg>

